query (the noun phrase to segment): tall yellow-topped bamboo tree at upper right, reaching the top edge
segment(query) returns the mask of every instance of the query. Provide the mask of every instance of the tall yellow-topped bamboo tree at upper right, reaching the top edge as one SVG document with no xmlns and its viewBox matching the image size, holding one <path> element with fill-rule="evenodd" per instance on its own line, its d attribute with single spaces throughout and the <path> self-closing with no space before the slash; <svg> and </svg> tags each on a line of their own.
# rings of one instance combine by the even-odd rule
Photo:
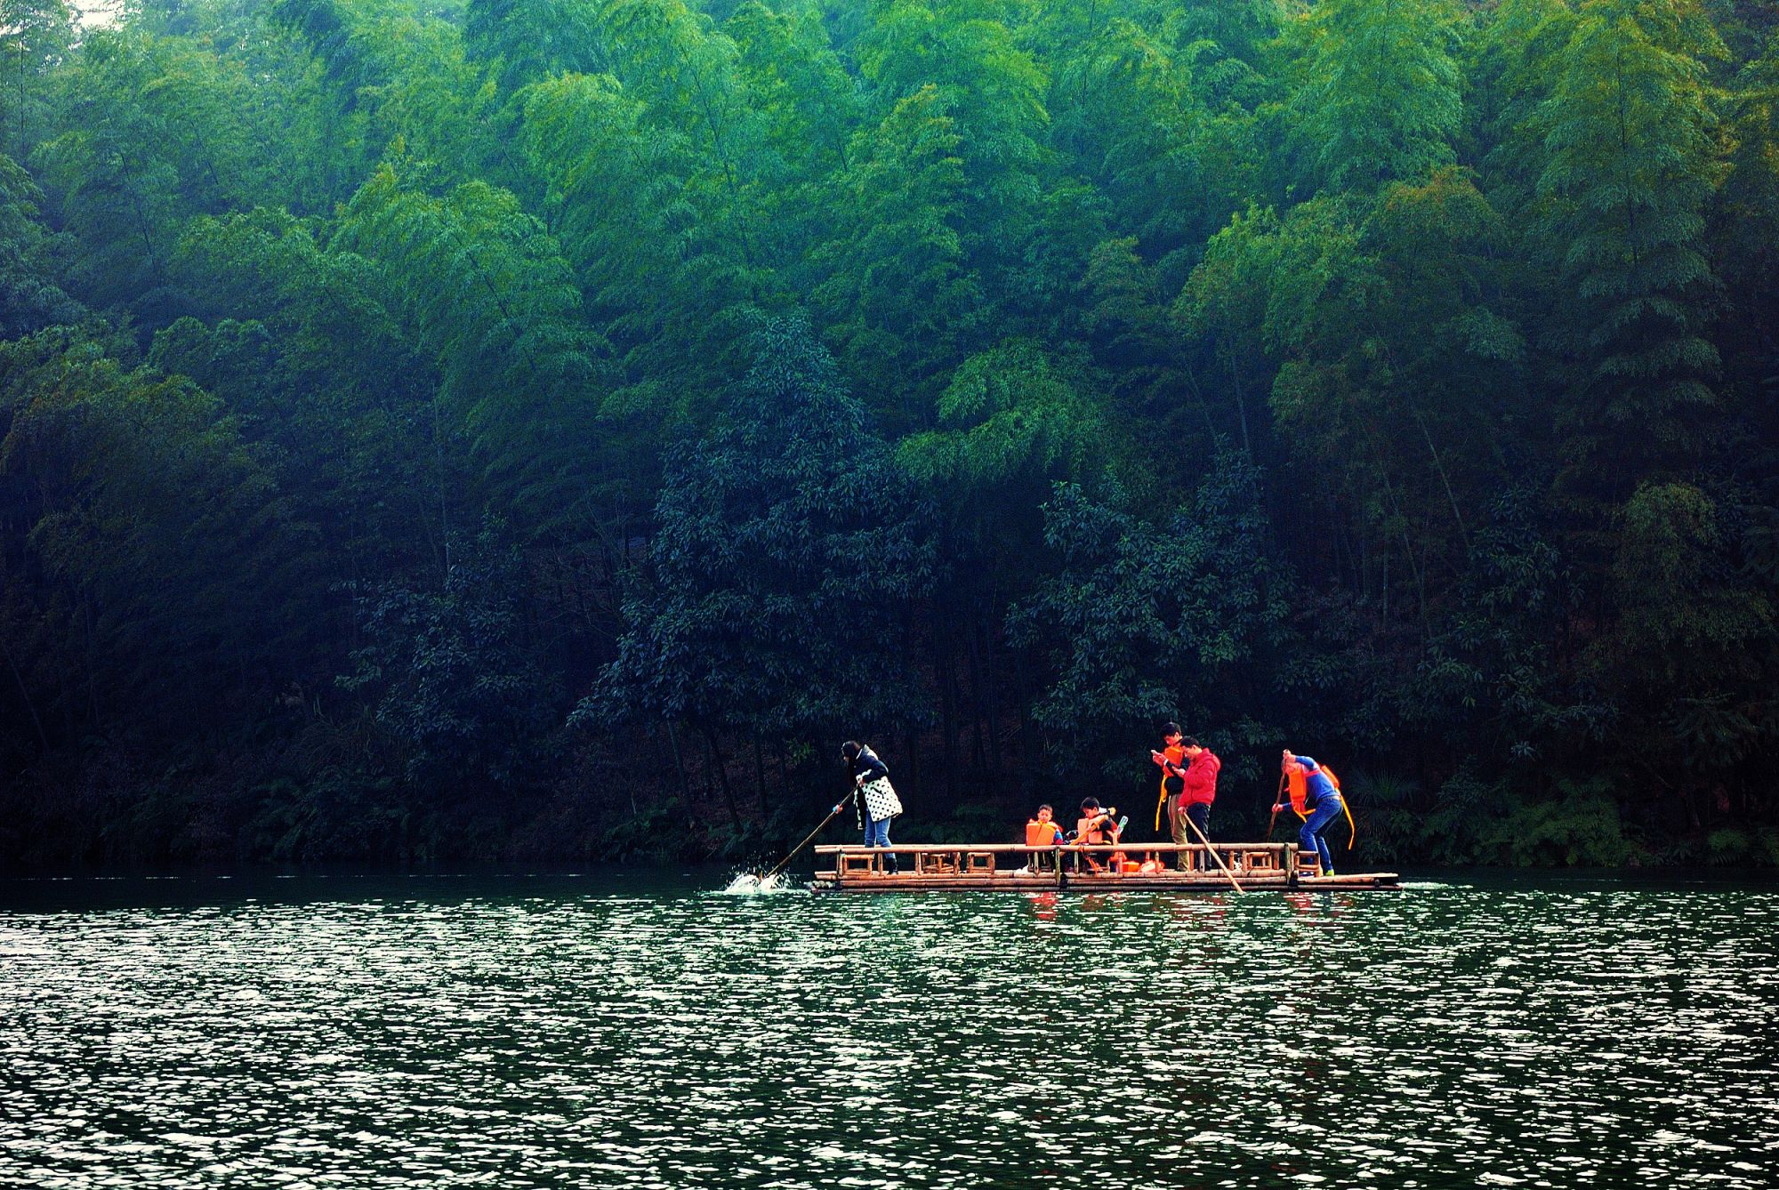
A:
<svg viewBox="0 0 1779 1190">
<path fill-rule="evenodd" d="M 1706 75 L 1719 55 L 1692 4 L 1589 0 L 1537 116 L 1537 229 L 1567 295 L 1550 336 L 1573 361 L 1571 457 L 1583 486 L 1617 498 L 1628 484 L 1610 477 L 1626 471 L 1601 470 L 1605 452 L 1681 462 L 1717 406 L 1704 206 L 1722 176 Z"/>
</svg>

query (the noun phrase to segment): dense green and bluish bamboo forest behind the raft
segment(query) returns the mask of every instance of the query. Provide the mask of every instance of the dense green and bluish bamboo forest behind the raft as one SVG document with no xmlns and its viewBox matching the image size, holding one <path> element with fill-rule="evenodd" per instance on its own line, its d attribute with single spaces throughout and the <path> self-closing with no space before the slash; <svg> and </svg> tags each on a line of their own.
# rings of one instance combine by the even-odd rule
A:
<svg viewBox="0 0 1779 1190">
<path fill-rule="evenodd" d="M 9 863 L 1779 863 L 1770 5 L 0 11 Z"/>
</svg>

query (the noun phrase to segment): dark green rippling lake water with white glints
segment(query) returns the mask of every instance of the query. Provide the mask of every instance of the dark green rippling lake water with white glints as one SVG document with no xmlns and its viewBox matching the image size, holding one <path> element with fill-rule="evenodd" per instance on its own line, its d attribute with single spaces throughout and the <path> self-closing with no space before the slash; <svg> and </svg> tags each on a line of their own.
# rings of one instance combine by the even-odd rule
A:
<svg viewBox="0 0 1779 1190">
<path fill-rule="evenodd" d="M 0 1185 L 1779 1185 L 1779 888 L 722 884 L 0 882 Z"/>
</svg>

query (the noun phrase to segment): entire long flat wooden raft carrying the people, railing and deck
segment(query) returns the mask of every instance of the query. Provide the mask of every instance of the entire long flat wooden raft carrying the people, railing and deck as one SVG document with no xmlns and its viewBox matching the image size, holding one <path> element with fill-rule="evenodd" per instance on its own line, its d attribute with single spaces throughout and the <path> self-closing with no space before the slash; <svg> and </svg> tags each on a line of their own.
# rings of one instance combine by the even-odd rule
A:
<svg viewBox="0 0 1779 1190">
<path fill-rule="evenodd" d="M 1395 889 L 1395 872 L 1320 875 L 1315 852 L 1297 843 L 1211 843 L 1244 889 Z M 1179 854 L 1208 872 L 1179 872 Z M 918 893 L 977 889 L 1228 891 L 1229 875 L 1203 843 L 1026 847 L 1023 843 L 918 843 L 909 847 L 817 847 L 811 888 L 818 893 Z M 884 856 L 898 870 L 884 870 Z M 824 863 L 825 861 L 825 863 Z M 831 863 L 833 866 L 827 866 Z"/>
</svg>

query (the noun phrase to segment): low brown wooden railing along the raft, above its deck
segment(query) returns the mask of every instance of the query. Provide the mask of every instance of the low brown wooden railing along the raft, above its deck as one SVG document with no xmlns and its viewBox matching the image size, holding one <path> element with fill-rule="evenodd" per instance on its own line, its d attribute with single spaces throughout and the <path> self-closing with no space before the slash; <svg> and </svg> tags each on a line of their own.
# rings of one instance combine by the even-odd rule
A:
<svg viewBox="0 0 1779 1190">
<path fill-rule="evenodd" d="M 1213 850 L 1238 879 L 1244 875 L 1315 875 L 1315 852 L 1299 852 L 1297 843 L 1064 843 L 1032 847 L 1028 843 L 907 843 L 895 847 L 817 847 L 817 856 L 834 861 L 834 875 L 890 877 L 884 857 L 897 856 L 898 875 L 993 877 L 1026 872 L 1053 875 L 1062 864 L 1082 875 L 1158 875 L 1174 873 L 1169 861 L 1185 857 L 1206 877 L 1222 877 L 1224 868 L 1208 856 Z M 1123 856 L 1121 861 L 1114 857 Z M 909 866 L 911 864 L 911 866 Z"/>
</svg>

